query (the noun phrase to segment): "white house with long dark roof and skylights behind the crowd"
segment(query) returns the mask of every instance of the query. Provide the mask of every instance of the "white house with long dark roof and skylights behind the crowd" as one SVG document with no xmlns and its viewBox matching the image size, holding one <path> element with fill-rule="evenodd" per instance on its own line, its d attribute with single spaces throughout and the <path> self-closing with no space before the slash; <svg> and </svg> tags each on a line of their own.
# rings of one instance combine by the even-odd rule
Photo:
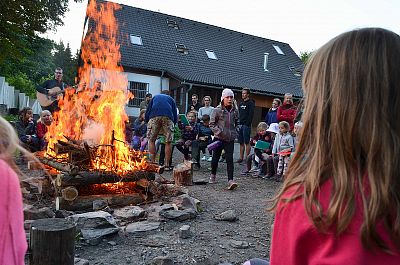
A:
<svg viewBox="0 0 400 265">
<path fill-rule="evenodd" d="M 209 95 L 218 105 L 224 88 L 241 100 L 250 88 L 254 123 L 275 97 L 302 97 L 303 63 L 287 43 L 185 18 L 121 5 L 115 13 L 122 40 L 121 65 L 135 98 L 127 113 L 137 116 L 146 93 L 169 89 L 184 113 L 191 95 Z"/>
</svg>

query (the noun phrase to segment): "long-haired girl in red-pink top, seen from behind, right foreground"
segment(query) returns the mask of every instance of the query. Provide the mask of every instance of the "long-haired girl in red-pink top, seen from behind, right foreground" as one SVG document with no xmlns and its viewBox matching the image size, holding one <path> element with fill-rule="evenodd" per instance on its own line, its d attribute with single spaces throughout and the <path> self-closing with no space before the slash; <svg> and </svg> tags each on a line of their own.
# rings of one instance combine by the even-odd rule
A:
<svg viewBox="0 0 400 265">
<path fill-rule="evenodd" d="M 273 200 L 272 265 L 400 264 L 399 47 L 394 32 L 357 29 L 307 63 L 303 131 Z"/>
</svg>

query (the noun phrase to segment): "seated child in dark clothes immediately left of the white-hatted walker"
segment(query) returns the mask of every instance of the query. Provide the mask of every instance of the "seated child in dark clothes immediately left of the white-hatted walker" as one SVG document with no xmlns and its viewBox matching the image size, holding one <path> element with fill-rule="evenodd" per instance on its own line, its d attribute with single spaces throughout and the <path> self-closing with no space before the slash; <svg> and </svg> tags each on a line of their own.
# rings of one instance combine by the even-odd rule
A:
<svg viewBox="0 0 400 265">
<path fill-rule="evenodd" d="M 213 135 L 209 125 L 210 125 L 210 116 L 204 114 L 202 117 L 202 123 L 199 124 L 199 134 L 197 140 L 193 141 L 192 143 L 192 157 L 193 161 L 196 163 L 196 167 L 200 168 L 200 150 L 203 153 L 206 152 L 206 147 L 212 141 L 211 137 Z M 211 154 L 211 153 L 210 153 Z M 202 159 L 203 161 L 207 160 L 206 156 L 204 155 Z M 211 157 L 210 157 L 211 158 Z"/>
</svg>

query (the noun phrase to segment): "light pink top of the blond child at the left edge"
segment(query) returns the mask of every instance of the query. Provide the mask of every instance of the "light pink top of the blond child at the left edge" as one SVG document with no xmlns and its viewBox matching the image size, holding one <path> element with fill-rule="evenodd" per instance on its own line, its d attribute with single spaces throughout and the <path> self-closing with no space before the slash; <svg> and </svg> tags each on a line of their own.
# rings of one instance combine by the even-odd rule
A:
<svg viewBox="0 0 400 265">
<path fill-rule="evenodd" d="M 27 249 L 22 194 L 14 170 L 0 159 L 0 264 L 23 265 Z"/>
</svg>

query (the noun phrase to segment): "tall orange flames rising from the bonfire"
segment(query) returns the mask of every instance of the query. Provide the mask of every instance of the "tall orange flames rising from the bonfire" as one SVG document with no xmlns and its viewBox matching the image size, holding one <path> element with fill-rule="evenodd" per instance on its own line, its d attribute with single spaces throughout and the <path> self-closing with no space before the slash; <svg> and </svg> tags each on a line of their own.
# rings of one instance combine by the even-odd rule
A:
<svg viewBox="0 0 400 265">
<path fill-rule="evenodd" d="M 118 4 L 110 2 L 88 3 L 86 15 L 91 23 L 82 42 L 80 85 L 59 100 L 60 110 L 54 114 L 49 128 L 47 154 L 56 156 L 53 146 L 58 140 L 65 140 L 65 136 L 84 140 L 99 146 L 92 161 L 95 169 L 124 173 L 145 167 L 145 158 L 133 159 L 125 143 L 128 116 L 124 106 L 132 95 L 127 91 L 127 76 L 119 65 L 121 54 L 114 16 L 118 9 Z M 101 93 L 95 81 L 101 81 Z"/>
</svg>

